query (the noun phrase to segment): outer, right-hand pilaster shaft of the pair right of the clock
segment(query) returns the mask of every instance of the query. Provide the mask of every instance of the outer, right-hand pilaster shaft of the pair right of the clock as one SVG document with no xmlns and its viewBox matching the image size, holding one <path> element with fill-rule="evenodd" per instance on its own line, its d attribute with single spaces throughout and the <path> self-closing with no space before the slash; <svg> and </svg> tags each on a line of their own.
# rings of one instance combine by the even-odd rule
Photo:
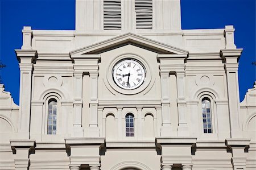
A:
<svg viewBox="0 0 256 170">
<path fill-rule="evenodd" d="M 185 65 L 184 65 L 185 66 Z M 177 128 L 178 136 L 188 136 L 187 117 L 185 115 L 185 71 L 176 71 L 177 77 L 177 107 L 179 114 L 179 126 Z"/>
</svg>

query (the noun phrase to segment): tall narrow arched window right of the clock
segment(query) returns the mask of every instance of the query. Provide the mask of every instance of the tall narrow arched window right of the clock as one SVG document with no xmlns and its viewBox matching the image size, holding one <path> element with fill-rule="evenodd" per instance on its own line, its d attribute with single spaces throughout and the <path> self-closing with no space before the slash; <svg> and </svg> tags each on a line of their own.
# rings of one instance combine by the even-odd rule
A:
<svg viewBox="0 0 256 170">
<path fill-rule="evenodd" d="M 203 113 L 204 133 L 211 134 L 212 133 L 212 111 L 210 109 L 209 98 L 202 99 L 202 113 Z"/>
</svg>

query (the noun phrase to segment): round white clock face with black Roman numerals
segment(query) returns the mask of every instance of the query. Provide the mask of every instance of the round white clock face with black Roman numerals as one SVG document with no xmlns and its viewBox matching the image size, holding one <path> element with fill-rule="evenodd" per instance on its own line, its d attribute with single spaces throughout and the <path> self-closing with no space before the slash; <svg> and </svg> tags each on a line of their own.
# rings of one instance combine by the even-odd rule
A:
<svg viewBox="0 0 256 170">
<path fill-rule="evenodd" d="M 113 68 L 113 79 L 122 89 L 136 89 L 141 86 L 146 77 L 146 71 L 139 61 L 124 59 L 115 64 Z"/>
</svg>

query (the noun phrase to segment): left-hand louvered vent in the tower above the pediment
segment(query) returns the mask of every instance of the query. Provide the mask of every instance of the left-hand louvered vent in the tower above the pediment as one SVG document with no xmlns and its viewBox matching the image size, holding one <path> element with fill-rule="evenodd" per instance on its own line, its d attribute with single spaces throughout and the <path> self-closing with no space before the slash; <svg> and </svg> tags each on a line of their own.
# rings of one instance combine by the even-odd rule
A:
<svg viewBox="0 0 256 170">
<path fill-rule="evenodd" d="M 104 30 L 121 30 L 121 0 L 104 0 Z"/>
</svg>

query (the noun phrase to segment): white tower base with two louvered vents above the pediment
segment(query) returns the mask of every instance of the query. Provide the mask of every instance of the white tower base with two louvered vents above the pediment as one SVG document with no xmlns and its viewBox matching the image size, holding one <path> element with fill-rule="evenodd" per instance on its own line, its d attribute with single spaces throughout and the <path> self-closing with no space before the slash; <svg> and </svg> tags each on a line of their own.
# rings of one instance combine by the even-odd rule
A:
<svg viewBox="0 0 256 170">
<path fill-rule="evenodd" d="M 76 0 L 76 31 L 97 30 L 180 31 L 180 0 Z"/>
</svg>

